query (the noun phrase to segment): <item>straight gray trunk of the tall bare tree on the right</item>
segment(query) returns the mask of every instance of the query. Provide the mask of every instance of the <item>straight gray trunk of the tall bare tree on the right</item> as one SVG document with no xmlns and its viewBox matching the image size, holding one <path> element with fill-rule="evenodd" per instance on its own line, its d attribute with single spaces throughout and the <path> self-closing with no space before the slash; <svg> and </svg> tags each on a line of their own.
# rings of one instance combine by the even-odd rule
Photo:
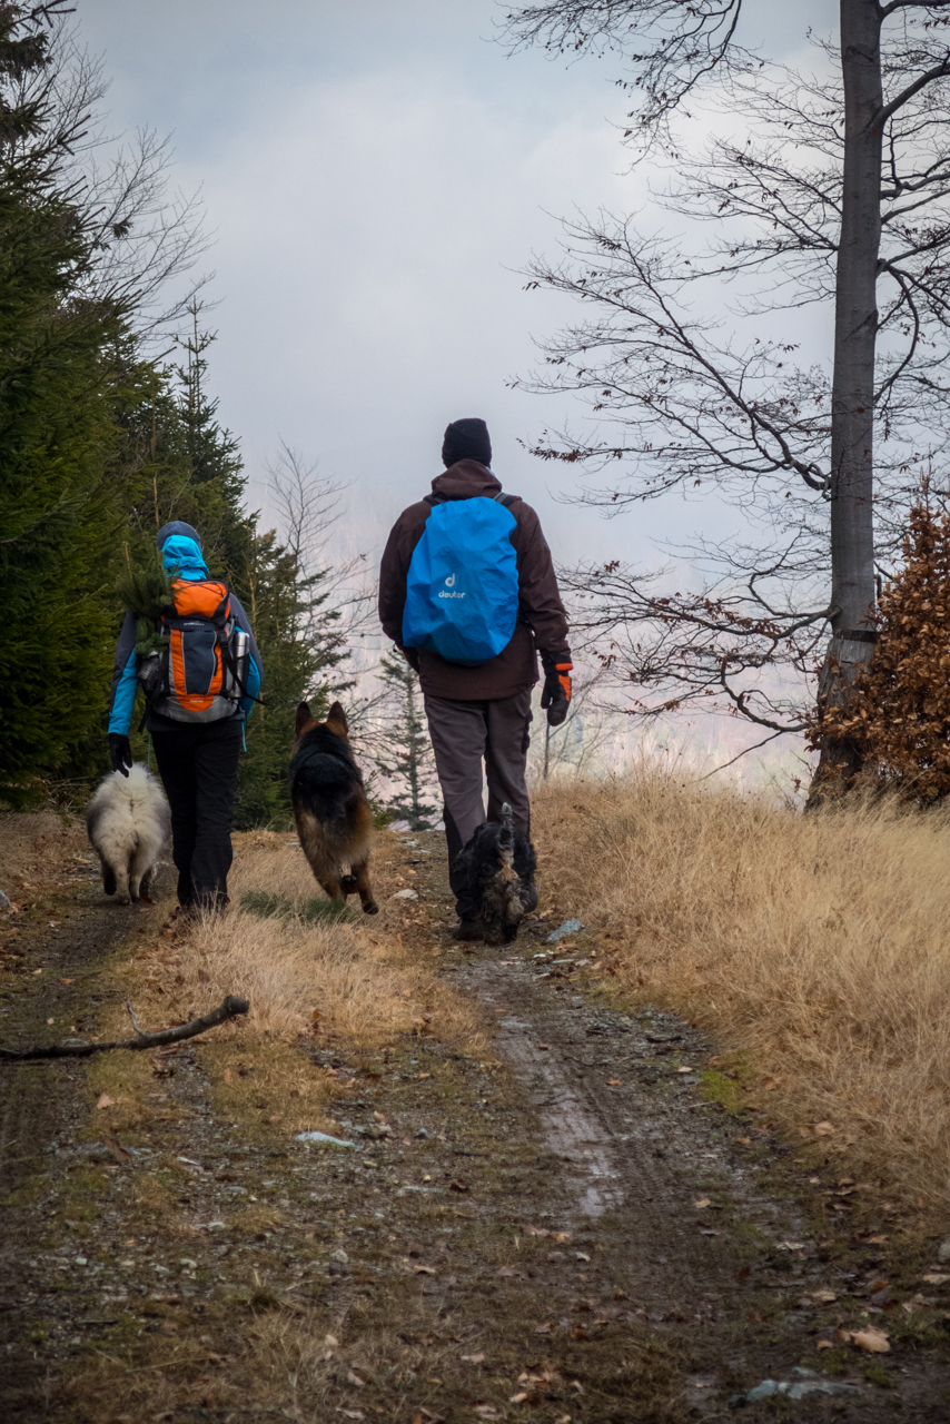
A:
<svg viewBox="0 0 950 1424">
<path fill-rule="evenodd" d="M 880 248 L 883 108 L 877 0 L 840 0 L 845 80 L 845 171 L 835 296 L 832 382 L 832 639 L 819 682 L 819 706 L 840 705 L 873 652 L 866 619 L 875 604 L 875 343 Z M 826 739 L 812 799 L 828 779 L 850 779 L 856 750 Z M 820 792 L 819 792 L 820 795 Z"/>
</svg>

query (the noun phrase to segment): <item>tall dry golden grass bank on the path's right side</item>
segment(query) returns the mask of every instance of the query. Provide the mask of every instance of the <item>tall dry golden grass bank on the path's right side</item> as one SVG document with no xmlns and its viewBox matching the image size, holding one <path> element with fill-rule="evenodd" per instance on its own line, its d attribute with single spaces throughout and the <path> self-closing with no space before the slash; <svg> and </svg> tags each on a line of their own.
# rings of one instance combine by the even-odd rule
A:
<svg viewBox="0 0 950 1424">
<path fill-rule="evenodd" d="M 815 1152 L 947 1215 L 947 813 L 802 816 L 657 769 L 534 806 L 544 891 L 625 994 L 715 1032 Z"/>
</svg>

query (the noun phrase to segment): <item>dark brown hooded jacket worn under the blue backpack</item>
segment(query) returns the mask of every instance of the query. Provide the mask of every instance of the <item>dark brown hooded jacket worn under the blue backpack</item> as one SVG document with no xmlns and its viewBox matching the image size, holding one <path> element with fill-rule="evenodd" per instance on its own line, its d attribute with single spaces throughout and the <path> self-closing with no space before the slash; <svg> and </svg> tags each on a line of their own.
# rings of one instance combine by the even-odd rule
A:
<svg viewBox="0 0 950 1424">
<path fill-rule="evenodd" d="M 501 488 L 491 470 L 477 460 L 459 460 L 444 474 L 432 481 L 434 501 L 410 504 L 396 520 L 379 571 L 379 619 L 387 638 L 403 645 L 403 609 L 406 607 L 406 578 L 413 550 L 432 514 L 433 503 L 443 500 L 491 498 Z M 570 662 L 567 646 L 567 614 L 557 591 L 557 577 L 551 564 L 537 514 L 524 500 L 510 506 L 517 524 L 511 544 L 518 561 L 518 621 L 511 642 L 479 668 L 463 668 L 446 662 L 427 648 L 410 648 L 409 659 L 419 668 L 423 692 L 433 698 L 460 702 L 481 702 L 510 698 L 538 679 L 537 654 L 553 652 L 558 662 Z"/>
</svg>

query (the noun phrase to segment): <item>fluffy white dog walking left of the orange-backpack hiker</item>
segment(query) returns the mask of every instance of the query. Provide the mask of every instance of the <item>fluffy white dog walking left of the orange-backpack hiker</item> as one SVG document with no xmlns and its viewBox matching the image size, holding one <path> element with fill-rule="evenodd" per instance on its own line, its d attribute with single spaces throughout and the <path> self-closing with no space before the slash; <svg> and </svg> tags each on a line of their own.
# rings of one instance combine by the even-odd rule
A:
<svg viewBox="0 0 950 1424">
<path fill-rule="evenodd" d="M 120 904 L 148 897 L 155 862 L 171 833 L 171 812 L 160 782 L 144 766 L 111 772 L 85 812 L 85 830 L 103 863 L 103 889 Z"/>
</svg>

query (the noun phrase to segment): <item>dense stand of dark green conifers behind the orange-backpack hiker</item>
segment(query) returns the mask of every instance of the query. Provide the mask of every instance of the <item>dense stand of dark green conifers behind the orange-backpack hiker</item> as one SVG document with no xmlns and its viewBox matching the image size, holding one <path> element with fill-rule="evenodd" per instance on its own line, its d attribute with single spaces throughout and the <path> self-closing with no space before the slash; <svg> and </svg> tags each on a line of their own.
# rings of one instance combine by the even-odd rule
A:
<svg viewBox="0 0 950 1424">
<path fill-rule="evenodd" d="M 57 48 L 57 10 L 0 0 L 0 800 L 105 769 L 118 627 L 131 592 L 141 602 L 161 581 L 158 528 L 185 520 L 244 602 L 265 664 L 238 823 L 281 822 L 293 708 L 325 705 L 345 654 L 332 577 L 246 508 L 238 443 L 208 394 L 215 335 L 201 303 L 187 308 L 178 366 L 144 356 L 154 320 L 142 303 L 188 265 L 194 216 L 155 218 L 164 245 L 150 248 L 161 145 L 120 164 L 111 192 L 77 168 L 74 140 L 100 91 L 94 66 Z"/>
</svg>

